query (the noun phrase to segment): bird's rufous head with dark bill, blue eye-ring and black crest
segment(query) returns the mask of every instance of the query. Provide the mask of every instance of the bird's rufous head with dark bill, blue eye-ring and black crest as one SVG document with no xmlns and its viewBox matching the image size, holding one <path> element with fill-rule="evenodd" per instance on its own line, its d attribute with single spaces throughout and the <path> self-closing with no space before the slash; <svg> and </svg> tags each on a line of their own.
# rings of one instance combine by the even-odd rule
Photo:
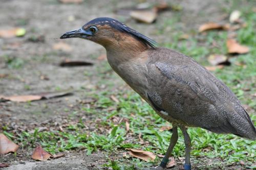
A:
<svg viewBox="0 0 256 170">
<path fill-rule="evenodd" d="M 108 17 L 95 18 L 82 28 L 67 32 L 60 38 L 83 38 L 101 44 L 106 49 L 129 49 L 134 48 L 134 45 L 139 48 L 151 48 L 156 44 L 154 40 Z"/>
</svg>

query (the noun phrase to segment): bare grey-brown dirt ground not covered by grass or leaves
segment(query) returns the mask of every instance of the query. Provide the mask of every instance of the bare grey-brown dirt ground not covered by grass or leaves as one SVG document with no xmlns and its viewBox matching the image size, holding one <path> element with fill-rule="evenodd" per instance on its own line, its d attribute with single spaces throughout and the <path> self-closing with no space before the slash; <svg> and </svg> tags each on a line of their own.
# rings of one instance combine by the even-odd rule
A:
<svg viewBox="0 0 256 170">
<path fill-rule="evenodd" d="M 183 7 L 181 28 L 184 30 L 198 28 L 200 23 L 218 21 L 222 17 L 220 6 L 222 1 L 172 1 L 175 5 Z M 0 39 L 1 56 L 12 56 L 22 59 L 23 66 L 19 69 L 8 68 L 5 58 L 0 58 L 0 73 L 8 77 L 0 79 L 1 95 L 21 95 L 40 92 L 71 90 L 72 95 L 50 100 L 40 100 L 31 103 L 0 103 L 0 127 L 11 125 L 13 128 L 30 130 L 34 127 L 44 127 L 50 123 L 62 124 L 72 111 L 78 112 L 77 117 L 86 120 L 97 118 L 96 115 L 81 110 L 81 101 L 91 99 L 84 95 L 90 90 L 129 89 L 120 78 L 110 69 L 107 74 L 113 75 L 112 82 L 117 88 L 99 86 L 104 81 L 98 78 L 102 74 L 98 69 L 97 57 L 105 54 L 100 45 L 82 39 L 58 39 L 63 33 L 80 28 L 87 21 L 101 16 L 122 18 L 132 28 L 144 33 L 157 41 L 171 41 L 164 35 L 154 35 L 156 25 L 161 25 L 161 18 L 172 17 L 174 11 L 160 14 L 156 23 L 144 25 L 134 20 L 114 14 L 119 7 L 132 6 L 130 1 L 86 1 L 83 4 L 60 4 L 54 0 L 47 1 L 19 1 L 4 0 L 0 5 L 0 28 L 8 29 L 19 26 L 19 22 L 27 22 L 22 26 L 27 34 L 22 38 Z M 209 17 L 203 17 L 208 15 Z M 75 19 L 69 21 L 69 17 Z M 28 38 L 32 35 L 45 36 L 44 42 L 31 42 Z M 63 52 L 53 49 L 57 42 L 68 43 L 72 50 Z M 93 62 L 93 66 L 86 67 L 60 67 L 59 62 L 65 59 Z M 90 74 L 84 74 L 89 72 Z M 43 78 L 42 78 L 43 77 Z M 44 79 L 47 77 L 47 80 Z M 49 79 L 49 80 L 48 80 Z M 69 108 L 69 111 L 66 109 Z M 0 130 L 1 132 L 1 130 Z M 0 162 L 8 162 L 10 167 L 5 169 L 103 169 L 106 163 L 101 153 L 87 156 L 84 151 L 66 152 L 66 156 L 51 161 L 33 161 L 30 157 L 31 150 L 20 148 L 16 157 L 8 154 L 0 157 Z M 118 154 L 117 154 L 118 155 Z M 119 156 L 122 156 L 119 154 Z M 117 156 L 118 157 L 118 156 Z M 180 163 L 180 164 L 179 164 Z M 178 162 L 175 169 L 182 168 Z"/>
</svg>

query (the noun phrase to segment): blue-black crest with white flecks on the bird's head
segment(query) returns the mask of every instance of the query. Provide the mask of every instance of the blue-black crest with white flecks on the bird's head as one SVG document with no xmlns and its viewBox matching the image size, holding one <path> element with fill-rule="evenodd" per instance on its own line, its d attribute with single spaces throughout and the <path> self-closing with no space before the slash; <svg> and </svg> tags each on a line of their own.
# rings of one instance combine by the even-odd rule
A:
<svg viewBox="0 0 256 170">
<path fill-rule="evenodd" d="M 136 39 L 138 39 L 139 41 L 143 42 L 146 45 L 149 45 L 151 47 L 156 47 L 157 45 L 157 42 L 154 41 L 153 39 L 140 34 L 139 32 L 131 29 L 130 27 L 125 26 L 122 22 L 119 22 L 118 20 L 113 18 L 108 18 L 108 17 L 95 18 L 89 21 L 86 25 L 109 25 L 110 27 L 118 31 L 125 32 L 127 34 L 132 35 L 133 37 L 135 37 Z"/>
</svg>

